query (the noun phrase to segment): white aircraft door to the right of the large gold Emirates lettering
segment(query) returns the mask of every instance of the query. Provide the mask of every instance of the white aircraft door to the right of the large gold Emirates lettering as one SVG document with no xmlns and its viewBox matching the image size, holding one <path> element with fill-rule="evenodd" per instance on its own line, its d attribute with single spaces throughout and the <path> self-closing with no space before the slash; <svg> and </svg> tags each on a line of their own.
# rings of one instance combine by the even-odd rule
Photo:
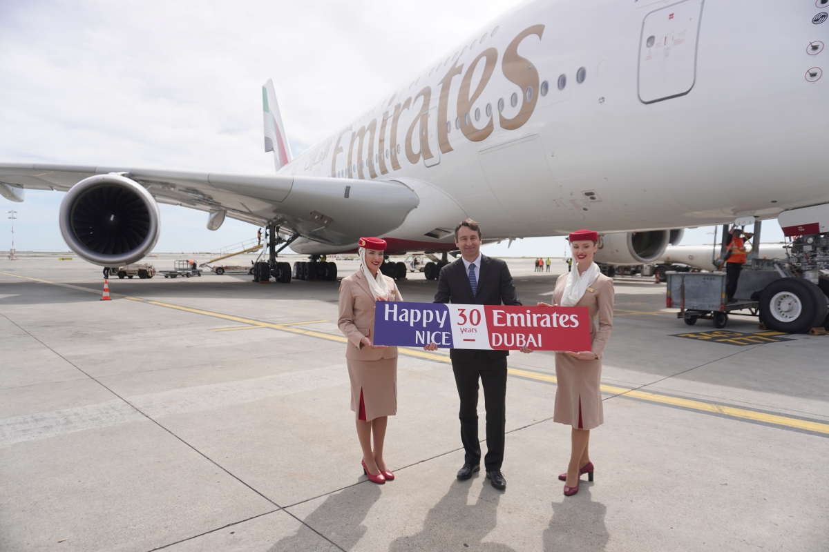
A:
<svg viewBox="0 0 829 552">
<path fill-rule="evenodd" d="M 696 81 L 696 43 L 704 0 L 684 0 L 650 12 L 639 42 L 639 99 L 684 96 Z"/>
</svg>

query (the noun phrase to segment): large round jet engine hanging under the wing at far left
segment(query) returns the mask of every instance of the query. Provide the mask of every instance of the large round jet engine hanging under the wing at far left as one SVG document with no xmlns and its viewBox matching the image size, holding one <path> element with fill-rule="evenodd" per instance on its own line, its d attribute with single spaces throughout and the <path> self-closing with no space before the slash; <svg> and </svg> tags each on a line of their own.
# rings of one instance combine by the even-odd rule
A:
<svg viewBox="0 0 829 552">
<path fill-rule="evenodd" d="M 61 234 L 78 257 L 100 266 L 128 265 L 153 250 L 161 212 L 134 180 L 95 175 L 81 180 L 61 203 Z"/>
</svg>

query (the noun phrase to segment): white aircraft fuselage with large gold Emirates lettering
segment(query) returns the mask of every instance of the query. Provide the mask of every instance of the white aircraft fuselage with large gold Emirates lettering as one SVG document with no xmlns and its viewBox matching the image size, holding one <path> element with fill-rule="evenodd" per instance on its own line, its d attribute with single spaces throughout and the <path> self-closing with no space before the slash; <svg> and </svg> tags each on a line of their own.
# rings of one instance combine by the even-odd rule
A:
<svg viewBox="0 0 829 552">
<path fill-rule="evenodd" d="M 531 2 L 279 172 L 409 185 L 419 207 L 385 237 L 412 244 L 451 242 L 424 234 L 465 217 L 485 238 L 510 238 L 685 228 L 827 203 L 827 78 L 807 72 L 829 59 L 807 51 L 829 42 L 829 22 L 812 23 L 819 11 Z"/>
</svg>

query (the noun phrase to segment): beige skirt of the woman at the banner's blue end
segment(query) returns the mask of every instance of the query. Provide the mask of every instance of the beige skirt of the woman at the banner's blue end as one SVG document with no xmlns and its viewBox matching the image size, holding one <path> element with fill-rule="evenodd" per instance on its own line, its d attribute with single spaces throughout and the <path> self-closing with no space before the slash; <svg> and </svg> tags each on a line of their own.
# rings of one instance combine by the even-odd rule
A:
<svg viewBox="0 0 829 552">
<path fill-rule="evenodd" d="M 397 414 L 397 358 L 347 358 L 351 410 L 357 420 L 371 421 Z"/>
</svg>

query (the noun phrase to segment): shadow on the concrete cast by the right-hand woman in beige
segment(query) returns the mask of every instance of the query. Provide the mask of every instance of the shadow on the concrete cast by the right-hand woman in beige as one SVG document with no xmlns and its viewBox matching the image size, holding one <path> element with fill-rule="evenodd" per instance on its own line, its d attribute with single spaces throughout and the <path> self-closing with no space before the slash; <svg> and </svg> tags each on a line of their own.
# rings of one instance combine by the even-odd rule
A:
<svg viewBox="0 0 829 552">
<path fill-rule="evenodd" d="M 610 534 L 604 525 L 604 516 L 608 507 L 593 502 L 591 486 L 583 481 L 577 495 L 552 503 L 553 517 L 543 537 L 545 552 L 604 550 L 607 546 Z"/>
</svg>

